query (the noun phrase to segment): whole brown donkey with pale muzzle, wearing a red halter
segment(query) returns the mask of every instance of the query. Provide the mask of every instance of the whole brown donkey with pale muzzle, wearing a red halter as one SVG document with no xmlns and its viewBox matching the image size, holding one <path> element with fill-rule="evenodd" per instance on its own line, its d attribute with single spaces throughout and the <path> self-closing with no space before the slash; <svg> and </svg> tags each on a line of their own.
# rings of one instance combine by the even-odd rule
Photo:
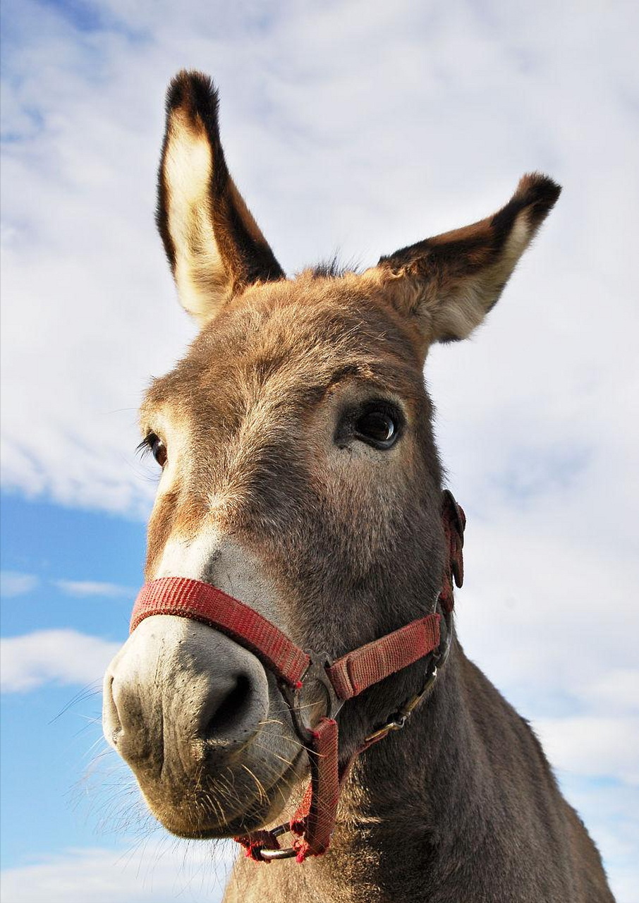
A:
<svg viewBox="0 0 639 903">
<path fill-rule="evenodd" d="M 141 409 L 162 468 L 145 577 L 208 591 L 218 614 L 147 604 L 106 672 L 106 739 L 168 831 L 245 835 L 264 861 L 309 763 L 316 793 L 335 756 L 332 837 L 303 865 L 238 857 L 227 903 L 611 901 L 539 742 L 455 636 L 463 515 L 442 496 L 422 376 L 431 343 L 465 339 L 493 308 L 559 186 L 524 175 L 494 216 L 359 274 L 287 279 L 227 171 L 210 79 L 181 72 L 166 115 L 157 223 L 201 330 Z M 297 678 L 284 693 L 229 612 L 326 653 L 304 695 Z M 327 717 L 330 663 L 415 619 L 431 647 Z M 306 749 L 302 714 L 308 738 L 338 725 L 334 751 Z M 321 818 L 337 796 L 318 796 Z"/>
</svg>

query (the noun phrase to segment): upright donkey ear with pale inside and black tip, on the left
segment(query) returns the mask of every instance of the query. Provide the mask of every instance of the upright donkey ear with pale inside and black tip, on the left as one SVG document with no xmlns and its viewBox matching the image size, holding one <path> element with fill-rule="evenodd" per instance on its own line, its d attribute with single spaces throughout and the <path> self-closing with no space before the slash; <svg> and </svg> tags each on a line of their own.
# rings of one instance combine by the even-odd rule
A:
<svg viewBox="0 0 639 903">
<path fill-rule="evenodd" d="M 201 323 L 247 285 L 283 277 L 227 170 L 218 91 L 180 72 L 166 97 L 156 221 L 182 306 Z"/>
</svg>

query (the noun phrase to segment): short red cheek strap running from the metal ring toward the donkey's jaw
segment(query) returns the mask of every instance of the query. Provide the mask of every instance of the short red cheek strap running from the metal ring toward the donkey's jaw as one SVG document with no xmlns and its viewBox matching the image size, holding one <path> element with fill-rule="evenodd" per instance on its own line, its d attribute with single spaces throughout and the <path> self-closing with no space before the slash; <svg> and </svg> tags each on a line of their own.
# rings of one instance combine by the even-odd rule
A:
<svg viewBox="0 0 639 903">
<path fill-rule="evenodd" d="M 327 668 L 330 683 L 340 699 L 350 699 L 439 645 L 440 616 L 430 614 L 338 658 Z"/>
</svg>

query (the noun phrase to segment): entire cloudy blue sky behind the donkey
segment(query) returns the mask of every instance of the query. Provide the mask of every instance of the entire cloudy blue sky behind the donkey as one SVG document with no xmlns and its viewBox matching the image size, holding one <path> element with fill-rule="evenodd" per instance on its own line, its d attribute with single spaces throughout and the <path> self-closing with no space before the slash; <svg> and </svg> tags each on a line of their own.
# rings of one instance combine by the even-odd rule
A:
<svg viewBox="0 0 639 903">
<path fill-rule="evenodd" d="M 639 903 L 639 7 L 4 0 L 2 20 L 3 899 L 212 903 L 232 855 L 154 824 L 99 725 L 153 501 L 136 409 L 195 334 L 153 224 L 187 67 L 218 83 L 290 274 L 481 219 L 523 172 L 563 185 L 426 379 L 468 515 L 458 634 Z"/>
</svg>

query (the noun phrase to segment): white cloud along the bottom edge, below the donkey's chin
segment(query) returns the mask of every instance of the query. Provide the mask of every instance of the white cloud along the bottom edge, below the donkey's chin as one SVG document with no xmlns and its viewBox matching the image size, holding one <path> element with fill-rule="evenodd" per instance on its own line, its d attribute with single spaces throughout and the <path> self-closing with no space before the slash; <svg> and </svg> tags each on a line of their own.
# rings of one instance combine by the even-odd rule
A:
<svg viewBox="0 0 639 903">
<path fill-rule="evenodd" d="M 219 903 L 235 844 L 136 842 L 72 849 L 2 871 L 3 899 L 21 903 Z"/>
</svg>

